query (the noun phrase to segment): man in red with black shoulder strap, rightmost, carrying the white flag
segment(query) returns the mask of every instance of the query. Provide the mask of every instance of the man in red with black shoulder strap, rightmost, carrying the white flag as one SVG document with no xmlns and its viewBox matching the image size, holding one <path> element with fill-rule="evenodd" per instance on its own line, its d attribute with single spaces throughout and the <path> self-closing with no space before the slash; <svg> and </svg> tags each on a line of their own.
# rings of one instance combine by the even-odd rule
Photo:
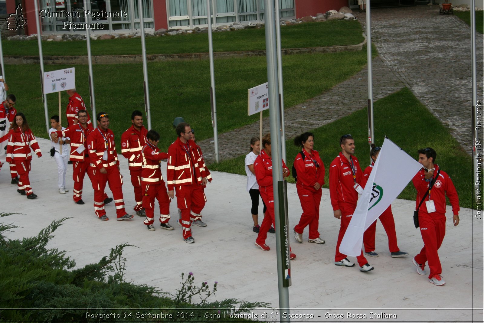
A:
<svg viewBox="0 0 484 323">
<path fill-rule="evenodd" d="M 454 226 L 459 224 L 459 197 L 455 190 L 454 183 L 447 173 L 439 170 L 439 165 L 434 164 L 437 153 L 434 149 L 427 147 L 420 149 L 419 162 L 423 168 L 412 179 L 413 186 L 417 189 L 417 202 L 415 208 L 419 207 L 425 193 L 427 196 L 418 209 L 420 233 L 423 240 L 423 248 L 416 255 L 412 262 L 417 266 L 417 273 L 425 275 L 425 262 L 428 262 L 430 273 L 428 280 L 437 286 L 445 284 L 442 279 L 442 266 L 440 265 L 439 250 L 445 235 L 445 195 L 452 205 Z"/>
</svg>

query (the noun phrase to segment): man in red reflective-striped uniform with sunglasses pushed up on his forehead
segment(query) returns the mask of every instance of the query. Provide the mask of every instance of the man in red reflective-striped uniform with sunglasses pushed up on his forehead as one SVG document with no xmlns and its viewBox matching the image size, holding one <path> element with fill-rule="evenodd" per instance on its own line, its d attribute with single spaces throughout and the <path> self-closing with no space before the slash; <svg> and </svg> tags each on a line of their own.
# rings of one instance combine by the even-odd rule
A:
<svg viewBox="0 0 484 323">
<path fill-rule="evenodd" d="M 109 129 L 109 116 L 105 112 L 99 112 L 96 117 L 98 127 L 91 131 L 87 139 L 94 189 L 94 212 L 100 220 L 109 220 L 104 209 L 104 189 L 108 183 L 116 205 L 117 220 L 133 219 L 133 215 L 124 210 L 118 153 L 114 146 L 114 133 Z"/>
</svg>

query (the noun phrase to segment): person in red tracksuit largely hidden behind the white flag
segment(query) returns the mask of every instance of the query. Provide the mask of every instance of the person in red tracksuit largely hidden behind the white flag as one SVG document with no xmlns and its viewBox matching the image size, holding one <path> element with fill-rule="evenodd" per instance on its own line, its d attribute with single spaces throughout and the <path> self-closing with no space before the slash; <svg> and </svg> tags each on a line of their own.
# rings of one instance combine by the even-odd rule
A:
<svg viewBox="0 0 484 323">
<path fill-rule="evenodd" d="M 370 150 L 370 157 L 372 159 L 371 165 L 366 167 L 363 172 L 362 182 L 360 185 L 364 188 L 368 178 L 370 176 L 371 170 L 373 169 L 373 165 L 375 165 L 375 161 L 377 160 L 378 154 L 380 153 L 381 147 L 376 147 L 375 144 L 371 144 Z M 398 245 L 396 243 L 396 233 L 395 233 L 395 220 L 393 220 L 393 213 L 392 213 L 392 206 L 388 206 L 388 208 L 383 211 L 383 213 L 378 218 L 380 219 L 383 228 L 388 236 L 388 248 L 390 249 L 390 253 L 392 258 L 398 257 L 405 257 L 408 255 L 408 252 L 400 251 Z M 373 222 L 368 229 L 364 232 L 363 235 L 363 245 L 364 245 L 364 253 L 370 257 L 378 257 L 378 253 L 375 252 L 375 230 L 377 227 L 377 220 Z"/>
</svg>

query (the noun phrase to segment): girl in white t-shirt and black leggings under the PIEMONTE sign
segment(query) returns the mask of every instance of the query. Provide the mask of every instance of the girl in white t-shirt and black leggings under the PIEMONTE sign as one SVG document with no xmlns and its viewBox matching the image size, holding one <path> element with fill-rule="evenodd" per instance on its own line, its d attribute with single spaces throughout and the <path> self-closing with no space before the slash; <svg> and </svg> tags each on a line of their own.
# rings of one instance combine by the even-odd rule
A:
<svg viewBox="0 0 484 323">
<path fill-rule="evenodd" d="M 252 137 L 250 140 L 250 152 L 245 156 L 245 174 L 247 174 L 247 191 L 250 194 L 250 198 L 252 200 L 252 220 L 254 220 L 254 227 L 252 231 L 259 233 L 259 222 L 258 222 L 258 209 L 259 209 L 259 185 L 257 184 L 256 175 L 254 174 L 254 161 L 257 158 L 257 155 L 260 152 L 260 141 L 259 137 Z M 264 205 L 264 216 L 266 216 L 267 207 L 262 201 Z M 270 233 L 274 233 L 275 230 L 271 226 L 269 229 Z"/>
</svg>

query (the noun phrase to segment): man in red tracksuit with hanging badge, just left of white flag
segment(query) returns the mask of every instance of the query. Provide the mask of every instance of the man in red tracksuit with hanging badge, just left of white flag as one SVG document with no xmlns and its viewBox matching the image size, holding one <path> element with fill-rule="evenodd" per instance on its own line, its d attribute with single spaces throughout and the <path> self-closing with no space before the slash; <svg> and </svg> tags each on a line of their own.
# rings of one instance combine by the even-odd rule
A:
<svg viewBox="0 0 484 323">
<path fill-rule="evenodd" d="M 333 206 L 334 217 L 341 220 L 334 264 L 337 266 L 353 267 L 355 264 L 350 262 L 347 256 L 339 251 L 339 245 L 341 244 L 341 240 L 343 240 L 349 221 L 356 209 L 359 193 L 357 190 L 363 191 L 359 186 L 359 183 L 362 182 L 363 172 L 358 159 L 353 156 L 355 154 L 353 137 L 350 134 L 345 134 L 339 139 L 339 144 L 341 152 L 330 165 L 331 205 Z M 374 269 L 363 256 L 363 250 L 356 258 L 360 265 L 360 271 L 366 272 Z"/>
</svg>

